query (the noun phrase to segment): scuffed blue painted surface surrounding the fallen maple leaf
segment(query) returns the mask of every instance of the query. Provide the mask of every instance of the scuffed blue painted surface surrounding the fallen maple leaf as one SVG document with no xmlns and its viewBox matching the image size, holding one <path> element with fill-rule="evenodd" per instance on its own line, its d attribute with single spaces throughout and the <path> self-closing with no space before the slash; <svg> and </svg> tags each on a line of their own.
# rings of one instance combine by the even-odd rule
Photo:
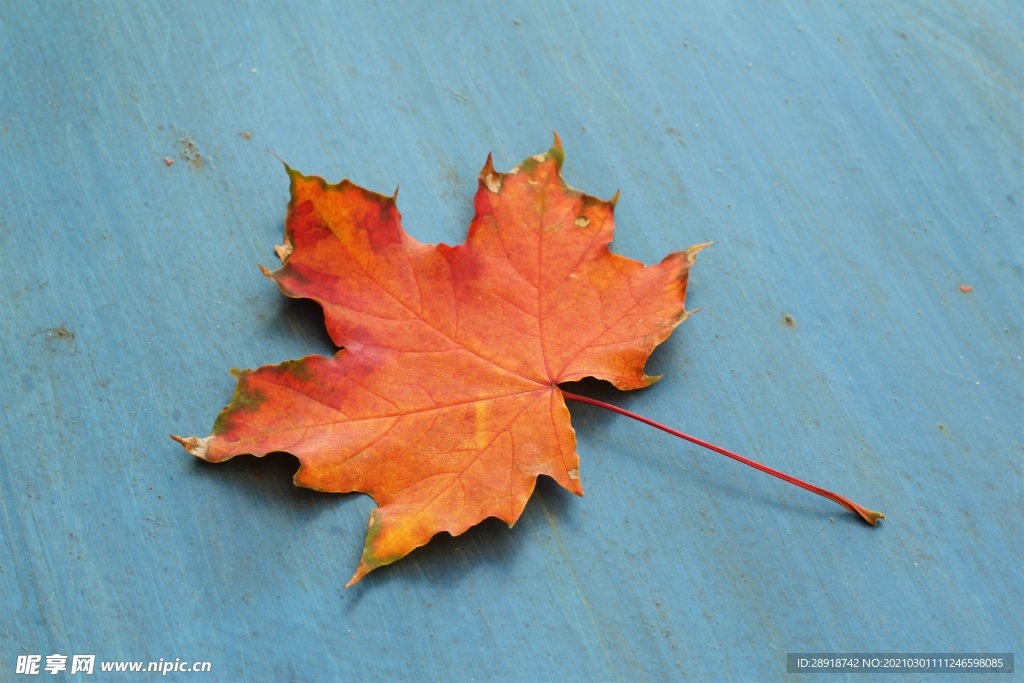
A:
<svg viewBox="0 0 1024 683">
<path fill-rule="evenodd" d="M 1021 5 L 0 4 L 0 679 L 34 653 L 211 663 L 189 681 L 1021 654 Z M 267 150 L 400 185 L 451 244 L 487 152 L 552 129 L 571 184 L 622 188 L 620 253 L 718 243 L 665 379 L 586 390 L 888 521 L 572 404 L 585 498 L 542 481 L 513 529 L 345 591 L 369 499 L 167 437 L 208 431 L 228 368 L 332 350 L 256 267 Z"/>
</svg>

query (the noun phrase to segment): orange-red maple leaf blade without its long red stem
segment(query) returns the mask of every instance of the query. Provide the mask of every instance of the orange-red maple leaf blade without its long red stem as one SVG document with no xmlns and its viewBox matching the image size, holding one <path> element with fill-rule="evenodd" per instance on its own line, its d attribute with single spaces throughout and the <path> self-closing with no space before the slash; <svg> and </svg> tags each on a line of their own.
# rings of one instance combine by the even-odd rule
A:
<svg viewBox="0 0 1024 683">
<path fill-rule="evenodd" d="M 654 347 L 682 323 L 705 246 L 654 266 L 612 254 L 617 195 L 561 178 L 558 136 L 509 173 L 480 173 L 465 244 L 424 245 L 394 197 L 288 168 L 284 266 L 263 272 L 324 307 L 332 357 L 232 371 L 238 387 L 195 456 L 294 454 L 295 483 L 362 492 L 370 516 L 348 586 L 438 531 L 510 526 L 537 477 L 583 495 L 560 382 L 645 387 Z"/>
</svg>

